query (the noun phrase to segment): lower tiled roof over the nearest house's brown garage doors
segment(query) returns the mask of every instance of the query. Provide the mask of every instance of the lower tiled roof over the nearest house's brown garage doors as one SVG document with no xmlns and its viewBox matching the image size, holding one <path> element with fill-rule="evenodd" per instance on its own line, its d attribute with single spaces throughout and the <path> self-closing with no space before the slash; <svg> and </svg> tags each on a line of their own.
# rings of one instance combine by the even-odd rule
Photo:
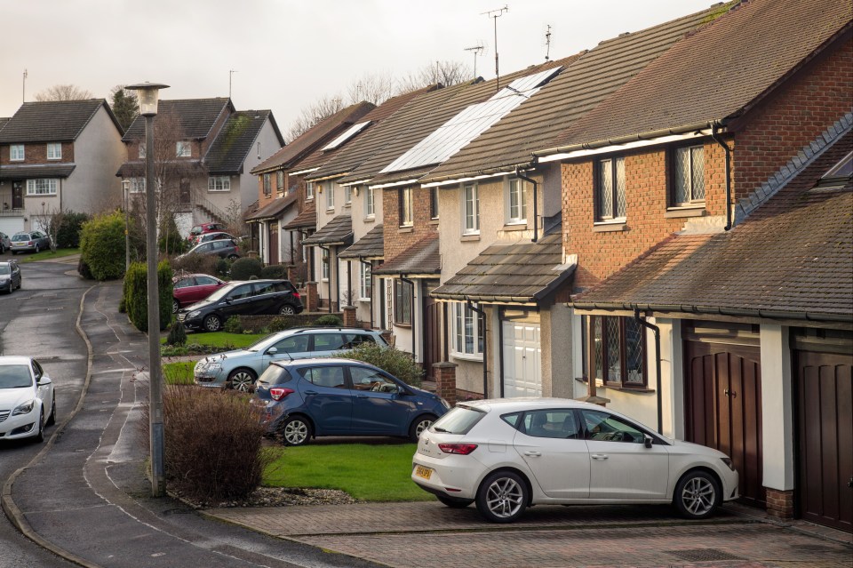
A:
<svg viewBox="0 0 853 568">
<path fill-rule="evenodd" d="M 576 308 L 853 321 L 853 180 L 816 182 L 853 133 L 728 233 L 679 235 L 581 294 Z"/>
</svg>

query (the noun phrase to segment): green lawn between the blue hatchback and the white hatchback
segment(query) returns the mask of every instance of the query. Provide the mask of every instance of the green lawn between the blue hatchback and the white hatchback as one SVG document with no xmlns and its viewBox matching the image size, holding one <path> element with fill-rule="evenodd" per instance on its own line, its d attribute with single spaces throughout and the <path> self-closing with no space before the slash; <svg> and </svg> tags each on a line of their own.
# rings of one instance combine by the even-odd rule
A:
<svg viewBox="0 0 853 568">
<path fill-rule="evenodd" d="M 307 444 L 271 450 L 269 487 L 339 489 L 356 500 L 421 501 L 434 497 L 411 481 L 416 444 Z"/>
</svg>

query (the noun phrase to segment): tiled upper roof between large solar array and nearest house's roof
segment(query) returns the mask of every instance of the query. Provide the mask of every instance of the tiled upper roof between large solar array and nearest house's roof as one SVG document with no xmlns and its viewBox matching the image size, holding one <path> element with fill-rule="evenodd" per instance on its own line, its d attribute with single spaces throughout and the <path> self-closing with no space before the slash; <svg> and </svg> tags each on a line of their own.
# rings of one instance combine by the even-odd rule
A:
<svg viewBox="0 0 853 568">
<path fill-rule="evenodd" d="M 540 92 L 421 181 L 506 172 L 515 165 L 530 164 L 534 150 L 553 144 L 578 117 L 607 99 L 718 9 L 623 34 L 564 60 L 565 68 Z"/>
</svg>

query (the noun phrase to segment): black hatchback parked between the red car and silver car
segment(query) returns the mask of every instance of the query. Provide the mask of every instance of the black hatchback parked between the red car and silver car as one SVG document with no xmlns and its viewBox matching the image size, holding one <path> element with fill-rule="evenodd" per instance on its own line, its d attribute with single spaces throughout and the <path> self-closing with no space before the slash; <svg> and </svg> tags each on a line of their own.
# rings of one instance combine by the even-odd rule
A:
<svg viewBox="0 0 853 568">
<path fill-rule="evenodd" d="M 231 316 L 290 316 L 301 311 L 302 300 L 290 281 L 252 280 L 228 283 L 205 300 L 180 308 L 177 316 L 188 329 L 218 332 Z"/>
</svg>

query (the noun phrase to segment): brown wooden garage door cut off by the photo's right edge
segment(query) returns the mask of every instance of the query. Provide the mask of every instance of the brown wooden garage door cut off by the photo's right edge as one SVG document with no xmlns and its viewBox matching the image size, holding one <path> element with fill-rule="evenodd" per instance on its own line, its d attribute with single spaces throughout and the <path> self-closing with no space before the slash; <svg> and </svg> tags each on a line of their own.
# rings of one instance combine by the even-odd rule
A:
<svg viewBox="0 0 853 568">
<path fill-rule="evenodd" d="M 853 355 L 797 349 L 797 509 L 853 532 Z"/>
</svg>

